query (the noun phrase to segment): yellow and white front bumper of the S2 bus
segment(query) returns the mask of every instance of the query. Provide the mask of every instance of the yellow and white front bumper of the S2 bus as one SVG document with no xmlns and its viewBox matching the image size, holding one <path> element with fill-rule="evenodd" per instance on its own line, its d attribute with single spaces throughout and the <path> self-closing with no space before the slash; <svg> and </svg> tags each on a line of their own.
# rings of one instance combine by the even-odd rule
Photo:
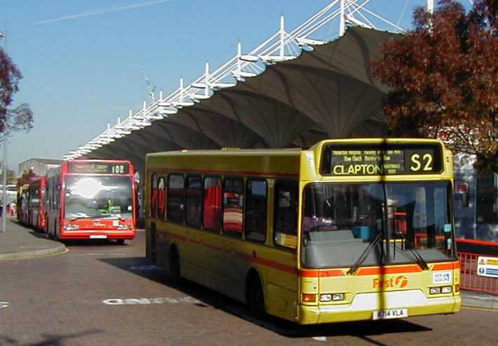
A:
<svg viewBox="0 0 498 346">
<path fill-rule="evenodd" d="M 403 291 L 402 291 L 403 292 Z M 371 295 L 368 297 L 361 295 Z M 423 295 L 422 291 L 417 293 Z M 367 299 L 362 299 L 367 298 Z M 402 303 L 393 303 L 385 299 L 382 304 L 372 293 L 358 294 L 350 304 L 337 305 L 299 305 L 298 323 L 299 324 L 324 324 L 342 321 L 365 321 L 373 319 L 374 311 L 406 309 L 408 317 L 423 316 L 429 314 L 454 314 L 459 312 L 462 300 L 460 295 L 452 295 L 438 298 L 424 298 L 410 300 L 410 294 L 405 297 Z"/>
</svg>

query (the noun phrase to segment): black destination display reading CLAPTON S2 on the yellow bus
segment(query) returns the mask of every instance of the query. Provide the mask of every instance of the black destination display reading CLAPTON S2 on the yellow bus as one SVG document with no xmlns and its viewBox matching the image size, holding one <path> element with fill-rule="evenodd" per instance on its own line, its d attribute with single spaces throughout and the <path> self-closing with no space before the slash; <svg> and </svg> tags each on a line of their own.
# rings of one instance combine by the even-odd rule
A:
<svg viewBox="0 0 498 346">
<path fill-rule="evenodd" d="M 442 171 L 443 152 L 434 144 L 325 145 L 325 175 L 406 175 Z"/>
</svg>

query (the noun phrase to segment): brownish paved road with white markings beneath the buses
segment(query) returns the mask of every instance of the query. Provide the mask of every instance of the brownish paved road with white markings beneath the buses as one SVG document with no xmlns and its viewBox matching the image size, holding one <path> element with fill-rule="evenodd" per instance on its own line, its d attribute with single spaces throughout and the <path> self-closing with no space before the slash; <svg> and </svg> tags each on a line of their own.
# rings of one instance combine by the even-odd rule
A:
<svg viewBox="0 0 498 346">
<path fill-rule="evenodd" d="M 66 247 L 0 261 L 0 345 L 498 345 L 497 310 L 325 326 L 260 321 L 151 266 L 144 232 L 124 246 Z"/>
</svg>

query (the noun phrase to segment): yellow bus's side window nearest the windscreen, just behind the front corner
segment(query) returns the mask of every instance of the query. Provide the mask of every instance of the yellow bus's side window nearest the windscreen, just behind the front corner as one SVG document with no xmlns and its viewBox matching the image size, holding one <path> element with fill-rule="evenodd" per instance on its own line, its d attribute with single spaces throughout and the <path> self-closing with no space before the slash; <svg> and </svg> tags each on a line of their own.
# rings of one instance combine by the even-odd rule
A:
<svg viewBox="0 0 498 346">
<path fill-rule="evenodd" d="M 297 181 L 278 180 L 274 197 L 274 241 L 297 247 Z"/>
</svg>

